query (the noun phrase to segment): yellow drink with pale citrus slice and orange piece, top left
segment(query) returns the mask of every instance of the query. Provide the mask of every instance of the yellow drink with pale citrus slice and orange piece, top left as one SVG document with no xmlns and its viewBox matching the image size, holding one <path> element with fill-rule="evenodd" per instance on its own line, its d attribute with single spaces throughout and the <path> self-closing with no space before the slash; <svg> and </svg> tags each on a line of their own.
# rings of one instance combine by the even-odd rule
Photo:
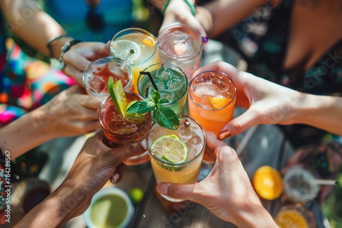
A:
<svg viewBox="0 0 342 228">
<path fill-rule="evenodd" d="M 144 29 L 130 28 L 119 31 L 109 44 L 111 56 L 124 60 L 133 49 L 128 64 L 133 75 L 133 87 L 136 94 L 137 78 L 140 71 L 159 61 L 157 57 L 157 39 L 152 33 Z"/>
</svg>

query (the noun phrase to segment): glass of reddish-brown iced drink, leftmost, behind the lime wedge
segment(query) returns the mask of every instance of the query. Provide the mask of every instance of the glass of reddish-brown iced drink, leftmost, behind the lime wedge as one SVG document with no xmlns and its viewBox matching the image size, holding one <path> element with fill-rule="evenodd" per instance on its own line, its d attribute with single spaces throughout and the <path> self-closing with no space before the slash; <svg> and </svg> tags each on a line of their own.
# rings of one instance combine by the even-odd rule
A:
<svg viewBox="0 0 342 228">
<path fill-rule="evenodd" d="M 108 79 L 121 80 L 125 91 L 133 91 L 131 68 L 126 65 L 121 69 L 122 61 L 114 57 L 103 57 L 89 63 L 83 72 L 83 85 L 90 96 L 105 100 L 109 96 Z"/>
</svg>

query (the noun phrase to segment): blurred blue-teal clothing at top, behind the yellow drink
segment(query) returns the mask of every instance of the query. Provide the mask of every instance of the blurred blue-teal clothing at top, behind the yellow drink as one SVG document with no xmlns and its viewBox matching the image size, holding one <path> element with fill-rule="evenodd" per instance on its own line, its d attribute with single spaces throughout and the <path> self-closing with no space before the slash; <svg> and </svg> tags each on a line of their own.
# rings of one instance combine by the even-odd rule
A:
<svg viewBox="0 0 342 228">
<path fill-rule="evenodd" d="M 133 27 L 133 1 L 101 0 L 93 12 L 98 31 L 92 30 L 87 22 L 90 5 L 84 0 L 44 1 L 45 11 L 77 40 L 107 42 L 122 29 Z M 102 29 L 101 25 L 102 24 Z"/>
</svg>

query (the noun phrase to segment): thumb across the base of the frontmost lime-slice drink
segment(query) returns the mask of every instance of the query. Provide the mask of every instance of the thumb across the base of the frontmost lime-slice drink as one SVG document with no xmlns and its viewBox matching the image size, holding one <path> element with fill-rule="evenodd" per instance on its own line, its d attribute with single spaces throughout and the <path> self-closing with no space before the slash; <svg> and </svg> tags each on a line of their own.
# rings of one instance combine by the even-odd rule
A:
<svg viewBox="0 0 342 228">
<path fill-rule="evenodd" d="M 161 195 L 166 195 L 175 199 L 189 199 L 194 201 L 195 184 L 157 184 L 157 191 Z"/>
</svg>

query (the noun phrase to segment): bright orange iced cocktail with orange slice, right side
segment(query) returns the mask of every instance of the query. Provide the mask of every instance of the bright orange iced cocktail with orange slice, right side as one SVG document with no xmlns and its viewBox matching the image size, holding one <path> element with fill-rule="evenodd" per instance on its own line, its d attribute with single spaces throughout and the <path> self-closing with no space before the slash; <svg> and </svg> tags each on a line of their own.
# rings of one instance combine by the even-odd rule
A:
<svg viewBox="0 0 342 228">
<path fill-rule="evenodd" d="M 236 87 L 223 72 L 202 72 L 190 81 L 188 100 L 189 115 L 202 128 L 218 135 L 221 128 L 233 119 Z"/>
</svg>

